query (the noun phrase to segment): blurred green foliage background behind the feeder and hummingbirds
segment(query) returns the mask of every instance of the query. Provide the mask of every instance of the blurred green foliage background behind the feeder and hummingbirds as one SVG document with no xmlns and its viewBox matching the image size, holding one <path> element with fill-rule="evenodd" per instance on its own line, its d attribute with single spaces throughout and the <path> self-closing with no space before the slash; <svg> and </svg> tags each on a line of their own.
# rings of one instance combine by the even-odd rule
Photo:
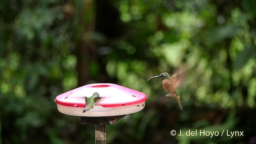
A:
<svg viewBox="0 0 256 144">
<path fill-rule="evenodd" d="M 108 143 L 256 143 L 256 1 L 2 0 L 0 143 L 94 142 L 54 98 L 95 82 L 144 92 L 144 110 L 107 126 Z M 160 80 L 186 65 L 166 98 Z M 171 130 L 244 136 L 171 136 Z"/>
</svg>

